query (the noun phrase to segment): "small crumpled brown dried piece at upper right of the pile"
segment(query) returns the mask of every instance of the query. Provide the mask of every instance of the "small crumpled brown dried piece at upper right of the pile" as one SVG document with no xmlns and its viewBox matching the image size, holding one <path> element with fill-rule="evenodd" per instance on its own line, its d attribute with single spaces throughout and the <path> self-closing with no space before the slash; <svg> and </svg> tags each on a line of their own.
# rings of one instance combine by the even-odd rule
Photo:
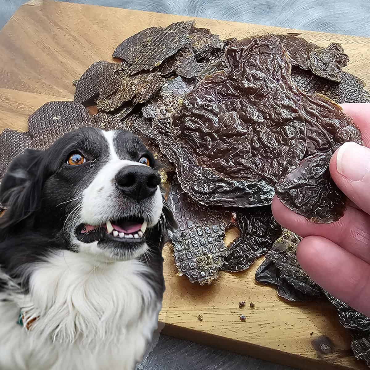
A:
<svg viewBox="0 0 370 370">
<path fill-rule="evenodd" d="M 309 58 L 310 70 L 328 80 L 342 81 L 342 67 L 349 62 L 349 57 L 344 53 L 340 44 L 332 43 L 326 48 L 312 50 Z"/>
</svg>

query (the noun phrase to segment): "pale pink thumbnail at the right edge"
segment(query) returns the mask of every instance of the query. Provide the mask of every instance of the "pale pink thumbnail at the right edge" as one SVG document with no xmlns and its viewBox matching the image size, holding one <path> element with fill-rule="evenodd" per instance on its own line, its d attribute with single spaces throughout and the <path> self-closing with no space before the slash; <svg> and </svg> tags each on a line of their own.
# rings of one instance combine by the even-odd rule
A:
<svg viewBox="0 0 370 370">
<path fill-rule="evenodd" d="M 361 181 L 370 170 L 370 149 L 353 141 L 337 152 L 337 171 L 352 181 Z"/>
</svg>

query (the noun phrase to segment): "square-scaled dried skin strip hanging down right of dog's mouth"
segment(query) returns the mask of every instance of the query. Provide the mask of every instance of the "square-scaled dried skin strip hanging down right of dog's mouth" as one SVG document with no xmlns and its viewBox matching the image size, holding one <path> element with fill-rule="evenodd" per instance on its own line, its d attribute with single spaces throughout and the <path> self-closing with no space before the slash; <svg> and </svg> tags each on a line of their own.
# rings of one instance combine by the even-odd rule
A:
<svg viewBox="0 0 370 370">
<path fill-rule="evenodd" d="M 230 213 L 196 204 L 175 182 L 167 203 L 179 224 L 170 232 L 178 275 L 191 283 L 210 284 L 218 277 L 227 248 L 223 242 Z"/>
</svg>

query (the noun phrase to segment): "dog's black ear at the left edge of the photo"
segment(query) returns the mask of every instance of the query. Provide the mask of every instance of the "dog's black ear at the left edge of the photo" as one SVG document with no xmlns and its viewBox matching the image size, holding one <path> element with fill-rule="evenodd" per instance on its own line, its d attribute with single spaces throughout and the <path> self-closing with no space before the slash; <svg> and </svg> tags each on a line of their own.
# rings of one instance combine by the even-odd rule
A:
<svg viewBox="0 0 370 370">
<path fill-rule="evenodd" d="M 10 163 L 0 184 L 0 203 L 7 208 L 0 218 L 0 228 L 16 225 L 40 206 L 43 153 L 26 149 Z"/>
</svg>

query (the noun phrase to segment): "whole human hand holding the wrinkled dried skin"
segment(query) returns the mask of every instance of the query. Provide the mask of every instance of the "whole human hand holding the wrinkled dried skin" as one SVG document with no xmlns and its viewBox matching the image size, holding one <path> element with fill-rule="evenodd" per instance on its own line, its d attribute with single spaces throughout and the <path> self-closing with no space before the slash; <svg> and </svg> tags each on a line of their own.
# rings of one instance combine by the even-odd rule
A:
<svg viewBox="0 0 370 370">
<path fill-rule="evenodd" d="M 370 317 L 370 104 L 342 107 L 359 127 L 365 145 L 345 143 L 330 161 L 333 180 L 350 199 L 344 216 L 319 225 L 290 211 L 276 196 L 272 212 L 283 227 L 303 237 L 297 259 L 307 274 Z"/>
</svg>

